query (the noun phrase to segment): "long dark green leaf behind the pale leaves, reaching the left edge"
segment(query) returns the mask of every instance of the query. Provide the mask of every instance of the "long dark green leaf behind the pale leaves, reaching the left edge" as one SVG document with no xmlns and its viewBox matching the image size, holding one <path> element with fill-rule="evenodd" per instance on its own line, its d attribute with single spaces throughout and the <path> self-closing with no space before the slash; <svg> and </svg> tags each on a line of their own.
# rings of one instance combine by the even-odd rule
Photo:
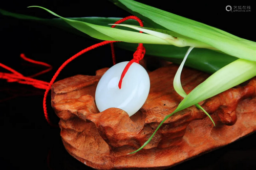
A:
<svg viewBox="0 0 256 170">
<path fill-rule="evenodd" d="M 44 23 L 46 25 L 54 26 L 79 36 L 91 38 L 90 36 L 87 36 L 87 34 L 84 34 L 81 31 L 78 31 L 77 29 L 73 28 L 65 20 L 61 18 L 43 19 L 43 18 L 33 17 L 29 15 L 12 13 L 2 9 L 0 9 L 0 13 L 2 15 L 11 16 L 18 19 L 26 19 L 26 20 Z M 80 17 L 80 18 L 68 18 L 68 19 L 79 20 L 79 21 L 84 21 L 88 23 L 93 23 L 95 25 L 111 27 L 109 26 L 109 23 L 115 23 L 117 20 L 121 18 Z M 137 21 L 131 20 L 131 19 L 126 20 L 125 23 L 128 23 L 130 25 L 136 25 L 136 24 L 138 25 Z M 147 22 L 144 22 L 144 26 L 151 27 L 151 25 L 148 24 Z M 126 29 L 126 28 L 123 27 L 121 29 Z M 169 31 L 168 33 L 177 37 L 177 33 L 175 32 Z M 179 36 L 182 36 L 182 35 L 179 34 Z M 117 42 L 115 43 L 115 46 L 118 46 L 125 50 L 135 51 L 138 45 L 133 43 Z M 146 48 L 147 55 L 158 56 L 163 58 L 164 60 L 167 60 L 176 64 L 180 64 L 182 62 L 182 59 L 188 49 L 188 47 L 177 47 L 174 45 L 144 44 L 144 46 Z M 236 59 L 237 59 L 236 57 L 232 57 L 227 54 L 218 53 L 218 52 L 211 51 L 208 49 L 203 49 L 203 48 L 195 48 L 190 53 L 189 58 L 186 60 L 185 66 L 199 69 L 204 72 L 208 72 L 209 74 L 212 74 L 215 71 L 219 70 L 223 66 L 231 63 Z"/>
</svg>

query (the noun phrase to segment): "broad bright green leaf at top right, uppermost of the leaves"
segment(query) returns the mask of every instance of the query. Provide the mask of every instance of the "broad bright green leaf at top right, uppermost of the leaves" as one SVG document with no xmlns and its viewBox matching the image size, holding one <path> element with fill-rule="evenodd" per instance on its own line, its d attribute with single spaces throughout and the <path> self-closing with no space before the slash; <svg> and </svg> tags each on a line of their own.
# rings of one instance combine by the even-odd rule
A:
<svg viewBox="0 0 256 170">
<path fill-rule="evenodd" d="M 256 61 L 256 43 L 253 41 L 136 1 L 112 0 L 112 2 L 146 22 L 150 22 L 154 28 L 171 30 L 211 45 L 231 56 Z"/>
</svg>

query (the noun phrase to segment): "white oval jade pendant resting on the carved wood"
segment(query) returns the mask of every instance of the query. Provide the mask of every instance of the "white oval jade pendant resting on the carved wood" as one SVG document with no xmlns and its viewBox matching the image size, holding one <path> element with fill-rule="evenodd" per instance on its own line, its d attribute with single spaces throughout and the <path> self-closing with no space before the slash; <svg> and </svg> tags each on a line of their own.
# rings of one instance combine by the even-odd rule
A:
<svg viewBox="0 0 256 170">
<path fill-rule="evenodd" d="M 128 61 L 112 66 L 101 77 L 95 93 L 95 102 L 100 112 L 108 108 L 119 108 L 129 116 L 135 114 L 145 103 L 150 92 L 150 77 L 138 63 L 127 70 L 121 89 L 118 83 Z"/>
</svg>

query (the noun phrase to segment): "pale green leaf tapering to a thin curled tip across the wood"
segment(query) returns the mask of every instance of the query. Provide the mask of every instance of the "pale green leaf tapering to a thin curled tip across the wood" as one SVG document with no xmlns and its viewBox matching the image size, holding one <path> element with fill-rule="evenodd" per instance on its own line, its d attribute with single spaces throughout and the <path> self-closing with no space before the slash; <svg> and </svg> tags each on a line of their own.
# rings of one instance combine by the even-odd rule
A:
<svg viewBox="0 0 256 170">
<path fill-rule="evenodd" d="M 175 111 L 162 120 L 152 136 L 136 151 L 130 153 L 136 153 L 143 149 L 151 139 L 154 137 L 158 129 L 170 116 L 178 111 L 181 111 L 187 107 L 193 106 L 205 99 L 221 93 L 231 87 L 239 85 L 256 76 L 256 62 L 248 61 L 244 59 L 238 59 L 225 67 L 221 68 L 215 74 L 211 75 L 203 83 L 192 90 L 182 102 L 178 105 Z"/>
</svg>

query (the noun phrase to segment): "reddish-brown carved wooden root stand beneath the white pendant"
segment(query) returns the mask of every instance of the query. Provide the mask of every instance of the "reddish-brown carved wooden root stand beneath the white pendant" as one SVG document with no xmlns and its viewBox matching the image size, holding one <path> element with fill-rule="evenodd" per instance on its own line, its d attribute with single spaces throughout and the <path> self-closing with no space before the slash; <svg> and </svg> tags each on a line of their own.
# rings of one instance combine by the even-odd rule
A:
<svg viewBox="0 0 256 170">
<path fill-rule="evenodd" d="M 162 119 L 182 101 L 173 88 L 177 65 L 149 72 L 151 89 L 133 116 L 117 108 L 98 111 L 95 89 L 106 68 L 96 76 L 77 75 L 52 86 L 52 107 L 60 118 L 66 150 L 96 169 L 166 169 L 222 147 L 256 130 L 256 78 L 200 103 L 216 123 L 195 106 L 168 118 L 152 141 L 138 149 Z M 184 68 L 182 85 L 189 93 L 209 75 Z"/>
</svg>

